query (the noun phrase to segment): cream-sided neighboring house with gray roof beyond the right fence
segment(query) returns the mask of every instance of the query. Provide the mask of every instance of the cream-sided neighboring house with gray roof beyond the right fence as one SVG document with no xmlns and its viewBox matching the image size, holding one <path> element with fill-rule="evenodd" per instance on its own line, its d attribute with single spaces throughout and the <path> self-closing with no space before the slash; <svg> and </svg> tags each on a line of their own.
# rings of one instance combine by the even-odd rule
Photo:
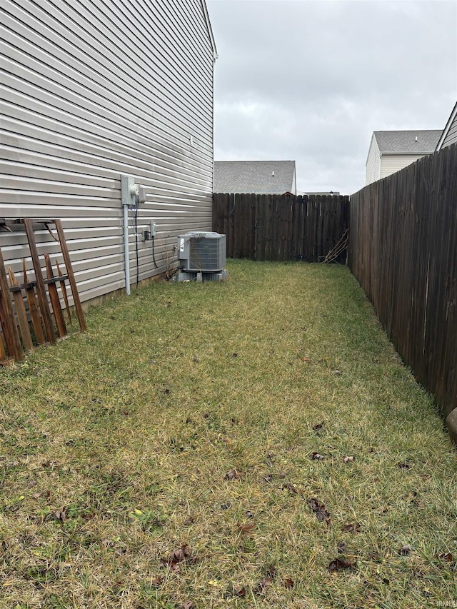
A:
<svg viewBox="0 0 457 609">
<path fill-rule="evenodd" d="M 373 131 L 366 158 L 366 186 L 434 152 L 441 133 L 441 129 Z"/>
</svg>

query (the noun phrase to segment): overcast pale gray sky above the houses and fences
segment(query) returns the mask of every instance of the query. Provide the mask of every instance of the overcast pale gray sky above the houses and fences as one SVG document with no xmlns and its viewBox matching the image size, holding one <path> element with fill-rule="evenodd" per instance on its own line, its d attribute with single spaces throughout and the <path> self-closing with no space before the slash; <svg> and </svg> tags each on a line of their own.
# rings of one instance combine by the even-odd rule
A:
<svg viewBox="0 0 457 609">
<path fill-rule="evenodd" d="M 443 129 L 456 0 L 207 0 L 216 161 L 295 160 L 301 191 L 365 184 L 373 131 Z"/>
</svg>

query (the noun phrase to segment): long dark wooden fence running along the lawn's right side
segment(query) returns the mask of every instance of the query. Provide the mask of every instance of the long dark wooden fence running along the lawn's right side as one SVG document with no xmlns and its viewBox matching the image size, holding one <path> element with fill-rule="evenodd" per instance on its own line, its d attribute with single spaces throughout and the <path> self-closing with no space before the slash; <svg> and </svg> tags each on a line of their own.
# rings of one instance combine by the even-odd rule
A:
<svg viewBox="0 0 457 609">
<path fill-rule="evenodd" d="M 351 196 L 348 264 L 388 337 L 457 408 L 457 144 Z"/>
</svg>

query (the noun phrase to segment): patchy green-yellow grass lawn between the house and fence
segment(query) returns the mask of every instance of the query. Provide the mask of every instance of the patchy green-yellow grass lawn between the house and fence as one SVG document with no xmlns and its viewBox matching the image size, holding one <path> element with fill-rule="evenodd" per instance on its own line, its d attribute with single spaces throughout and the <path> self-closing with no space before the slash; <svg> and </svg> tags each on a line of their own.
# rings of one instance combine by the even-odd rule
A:
<svg viewBox="0 0 457 609">
<path fill-rule="evenodd" d="M 229 272 L 0 372 L 1 608 L 457 606 L 457 453 L 348 269 Z"/>
</svg>

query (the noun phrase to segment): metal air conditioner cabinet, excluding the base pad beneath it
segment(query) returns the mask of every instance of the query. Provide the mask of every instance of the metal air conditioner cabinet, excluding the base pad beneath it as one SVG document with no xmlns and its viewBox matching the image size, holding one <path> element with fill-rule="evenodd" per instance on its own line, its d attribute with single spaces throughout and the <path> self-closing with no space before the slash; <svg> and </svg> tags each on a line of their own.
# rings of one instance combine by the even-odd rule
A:
<svg viewBox="0 0 457 609">
<path fill-rule="evenodd" d="M 184 271 L 216 273 L 226 265 L 226 236 L 204 231 L 180 235 L 178 253 Z"/>
</svg>

